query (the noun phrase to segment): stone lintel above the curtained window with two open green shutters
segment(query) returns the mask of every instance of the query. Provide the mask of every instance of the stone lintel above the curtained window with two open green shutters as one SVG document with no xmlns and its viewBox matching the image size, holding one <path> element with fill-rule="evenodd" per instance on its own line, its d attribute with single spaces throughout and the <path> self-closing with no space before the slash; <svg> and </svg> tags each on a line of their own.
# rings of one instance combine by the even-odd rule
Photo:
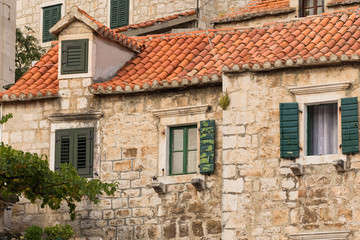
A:
<svg viewBox="0 0 360 240">
<path fill-rule="evenodd" d="M 344 91 L 348 89 L 350 85 L 351 82 L 325 83 L 300 87 L 289 87 L 289 90 L 295 95 L 306 95 L 324 92 Z"/>
</svg>

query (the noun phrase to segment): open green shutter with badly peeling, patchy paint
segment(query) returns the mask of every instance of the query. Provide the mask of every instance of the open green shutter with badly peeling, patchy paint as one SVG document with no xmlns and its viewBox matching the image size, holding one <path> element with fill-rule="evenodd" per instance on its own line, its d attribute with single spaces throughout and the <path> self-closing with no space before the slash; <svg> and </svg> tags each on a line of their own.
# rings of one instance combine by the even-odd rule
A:
<svg viewBox="0 0 360 240">
<path fill-rule="evenodd" d="M 215 120 L 200 122 L 200 173 L 210 174 L 215 168 Z"/>
</svg>

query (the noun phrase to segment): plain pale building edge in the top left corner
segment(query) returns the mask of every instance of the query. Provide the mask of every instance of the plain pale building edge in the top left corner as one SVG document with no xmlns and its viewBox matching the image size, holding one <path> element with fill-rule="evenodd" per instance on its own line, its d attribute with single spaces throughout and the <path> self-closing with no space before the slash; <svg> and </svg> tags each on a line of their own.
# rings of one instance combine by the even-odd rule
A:
<svg viewBox="0 0 360 240">
<path fill-rule="evenodd" d="M 15 81 L 16 2 L 0 1 L 0 89 Z"/>
</svg>

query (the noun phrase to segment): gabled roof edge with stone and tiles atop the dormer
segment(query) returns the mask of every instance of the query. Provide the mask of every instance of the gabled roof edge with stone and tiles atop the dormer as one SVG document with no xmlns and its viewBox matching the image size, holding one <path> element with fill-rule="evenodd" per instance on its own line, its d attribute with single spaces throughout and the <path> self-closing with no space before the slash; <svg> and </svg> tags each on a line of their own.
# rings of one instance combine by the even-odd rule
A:
<svg viewBox="0 0 360 240">
<path fill-rule="evenodd" d="M 75 20 L 81 21 L 92 28 L 95 32 L 101 36 L 108 38 L 112 41 L 120 43 L 122 46 L 129 48 L 135 52 L 140 52 L 142 44 L 132 37 L 125 36 L 122 33 L 118 33 L 113 29 L 98 22 L 96 19 L 87 14 L 84 10 L 77 6 L 72 6 L 70 12 L 68 12 L 62 19 L 60 19 L 51 29 L 50 33 L 58 36 L 59 33 L 70 25 Z"/>
</svg>

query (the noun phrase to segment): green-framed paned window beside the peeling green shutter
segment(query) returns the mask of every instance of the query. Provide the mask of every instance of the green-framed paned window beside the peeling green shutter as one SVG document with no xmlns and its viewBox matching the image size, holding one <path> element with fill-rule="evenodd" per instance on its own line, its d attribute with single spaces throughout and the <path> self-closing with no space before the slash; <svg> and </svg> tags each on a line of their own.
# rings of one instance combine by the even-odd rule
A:
<svg viewBox="0 0 360 240">
<path fill-rule="evenodd" d="M 196 125 L 170 128 L 170 175 L 197 172 L 197 132 Z"/>
</svg>

